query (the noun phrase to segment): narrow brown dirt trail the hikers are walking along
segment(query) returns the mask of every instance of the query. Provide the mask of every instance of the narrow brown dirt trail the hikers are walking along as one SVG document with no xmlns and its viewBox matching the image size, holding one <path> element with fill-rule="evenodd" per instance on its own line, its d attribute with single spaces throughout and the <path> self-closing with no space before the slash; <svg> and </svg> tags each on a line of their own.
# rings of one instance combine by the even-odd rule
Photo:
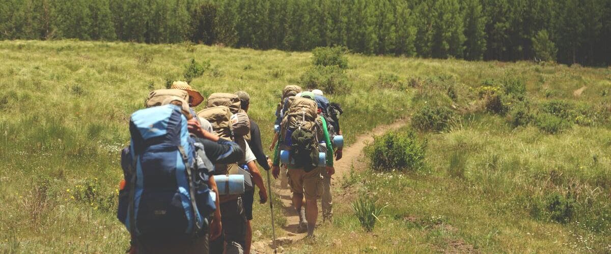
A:
<svg viewBox="0 0 611 254">
<path fill-rule="evenodd" d="M 390 130 L 397 130 L 406 124 L 407 119 L 400 119 L 389 125 L 381 125 L 373 129 L 373 131 L 360 135 L 356 141 L 348 147 L 343 149 L 343 157 L 341 160 L 335 161 L 335 175 L 332 177 L 332 185 L 335 185 L 338 180 L 342 179 L 343 175 L 350 172 L 350 168 L 353 165 L 358 164 L 358 159 L 362 158 L 363 149 L 368 143 L 373 141 L 373 136 L 382 135 Z M 356 168 L 355 168 L 356 169 Z M 279 181 L 277 181 L 279 182 Z M 293 202 L 291 200 L 291 191 L 289 189 L 274 188 L 274 195 L 279 195 L 282 200 L 282 210 L 284 216 L 287 218 L 287 224 L 284 227 L 276 227 L 276 235 L 285 235 L 276 239 L 278 245 L 278 253 L 284 252 L 284 247 L 292 244 L 295 241 L 299 241 L 305 237 L 305 233 L 297 233 L 297 227 L 299 225 L 299 216 L 293 208 Z M 341 203 L 341 196 L 334 196 L 336 203 Z M 282 216 L 278 214 L 277 216 Z M 320 219 L 320 218 L 319 218 Z M 272 241 L 258 241 L 252 243 L 252 253 L 274 253 L 272 249 Z"/>
</svg>

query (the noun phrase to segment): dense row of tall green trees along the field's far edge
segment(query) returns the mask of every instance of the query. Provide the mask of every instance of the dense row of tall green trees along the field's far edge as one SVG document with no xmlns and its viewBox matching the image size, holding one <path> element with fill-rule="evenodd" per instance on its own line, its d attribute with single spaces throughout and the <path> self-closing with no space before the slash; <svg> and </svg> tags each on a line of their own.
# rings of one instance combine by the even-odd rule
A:
<svg viewBox="0 0 611 254">
<path fill-rule="evenodd" d="M 0 0 L 0 40 L 611 64 L 611 0 Z"/>
</svg>

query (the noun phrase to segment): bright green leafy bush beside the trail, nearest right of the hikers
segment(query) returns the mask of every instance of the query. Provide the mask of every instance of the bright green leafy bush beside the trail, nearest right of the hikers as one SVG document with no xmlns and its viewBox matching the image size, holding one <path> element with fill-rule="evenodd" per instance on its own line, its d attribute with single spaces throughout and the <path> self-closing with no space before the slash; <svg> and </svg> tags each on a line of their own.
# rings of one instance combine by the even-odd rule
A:
<svg viewBox="0 0 611 254">
<path fill-rule="evenodd" d="M 378 171 L 392 169 L 414 171 L 424 166 L 426 141 L 420 141 L 412 131 L 389 132 L 376 136 L 366 153 L 371 166 Z"/>
</svg>

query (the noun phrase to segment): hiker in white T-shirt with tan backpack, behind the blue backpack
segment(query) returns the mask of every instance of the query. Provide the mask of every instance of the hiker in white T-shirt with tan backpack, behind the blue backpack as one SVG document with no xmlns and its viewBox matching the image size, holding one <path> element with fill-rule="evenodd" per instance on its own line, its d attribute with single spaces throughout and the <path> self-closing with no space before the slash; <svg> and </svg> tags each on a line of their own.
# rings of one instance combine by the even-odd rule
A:
<svg viewBox="0 0 611 254">
<path fill-rule="evenodd" d="M 240 98 L 235 94 L 214 93 L 208 98 L 207 108 L 198 113 L 213 124 L 214 132 L 222 138 L 233 139 L 245 150 L 245 156 L 238 164 L 217 165 L 215 174 L 242 174 L 245 188 L 240 194 L 221 196 L 221 215 L 224 230 L 220 238 L 211 242 L 213 253 L 244 253 L 250 252 L 251 239 L 247 239 L 248 218 L 252 219 L 252 203 L 254 202 L 254 185 L 259 188 L 259 202 L 267 202 L 268 196 L 263 177 L 258 171 L 257 159 L 247 143 L 250 139 L 251 120 L 246 112 L 241 110 Z M 248 180 L 249 184 L 246 184 Z"/>
</svg>

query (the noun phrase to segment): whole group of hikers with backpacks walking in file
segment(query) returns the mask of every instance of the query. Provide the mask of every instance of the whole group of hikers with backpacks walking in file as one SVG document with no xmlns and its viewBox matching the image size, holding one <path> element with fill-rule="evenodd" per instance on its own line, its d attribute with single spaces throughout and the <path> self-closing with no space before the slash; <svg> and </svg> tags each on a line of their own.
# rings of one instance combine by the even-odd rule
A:
<svg viewBox="0 0 611 254">
<path fill-rule="evenodd" d="M 268 202 L 269 169 L 280 188 L 290 186 L 299 233 L 313 237 L 318 199 L 323 221 L 332 219 L 331 175 L 343 146 L 340 105 L 321 90 L 285 86 L 269 158 L 248 116 L 248 93 L 210 94 L 196 113 L 203 101 L 177 81 L 150 92 L 145 108 L 131 115 L 117 211 L 130 231 L 129 252 L 250 253 L 254 186 L 259 202 Z M 269 195 L 257 164 L 268 172 Z"/>
</svg>

